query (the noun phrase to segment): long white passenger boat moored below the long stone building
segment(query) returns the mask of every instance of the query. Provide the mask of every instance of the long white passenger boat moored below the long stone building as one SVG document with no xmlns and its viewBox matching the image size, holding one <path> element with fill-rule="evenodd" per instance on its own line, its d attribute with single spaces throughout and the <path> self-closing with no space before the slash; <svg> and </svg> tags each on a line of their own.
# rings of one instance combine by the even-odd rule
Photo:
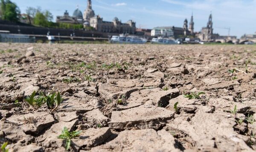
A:
<svg viewBox="0 0 256 152">
<path fill-rule="evenodd" d="M 119 36 L 112 36 L 111 43 L 131 43 L 131 44 L 144 44 L 147 42 L 147 39 L 136 37 L 136 36 L 128 36 L 121 34 Z"/>
</svg>

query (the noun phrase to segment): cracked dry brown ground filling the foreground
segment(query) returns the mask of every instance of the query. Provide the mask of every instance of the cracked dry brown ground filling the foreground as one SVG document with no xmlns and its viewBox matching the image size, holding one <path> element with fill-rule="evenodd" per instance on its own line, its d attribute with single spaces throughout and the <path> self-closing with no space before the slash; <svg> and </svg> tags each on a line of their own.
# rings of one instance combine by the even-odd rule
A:
<svg viewBox="0 0 256 152">
<path fill-rule="evenodd" d="M 255 45 L 1 43 L 0 53 L 9 152 L 63 152 L 64 127 L 82 131 L 72 152 L 256 150 Z M 33 91 L 64 100 L 35 109 L 24 100 Z M 205 94 L 184 97 L 193 92 Z"/>
</svg>

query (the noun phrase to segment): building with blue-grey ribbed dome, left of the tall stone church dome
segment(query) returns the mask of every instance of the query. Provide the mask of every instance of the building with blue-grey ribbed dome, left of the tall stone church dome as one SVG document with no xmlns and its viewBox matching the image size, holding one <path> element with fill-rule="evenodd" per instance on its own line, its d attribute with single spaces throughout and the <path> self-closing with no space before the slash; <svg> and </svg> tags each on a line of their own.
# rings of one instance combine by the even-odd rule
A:
<svg viewBox="0 0 256 152">
<path fill-rule="evenodd" d="M 56 18 L 57 23 L 70 23 L 70 24 L 83 24 L 83 14 L 82 12 L 76 8 L 76 10 L 73 12 L 73 16 L 69 16 L 69 13 L 67 10 L 64 12 L 63 16 L 57 16 Z"/>
</svg>

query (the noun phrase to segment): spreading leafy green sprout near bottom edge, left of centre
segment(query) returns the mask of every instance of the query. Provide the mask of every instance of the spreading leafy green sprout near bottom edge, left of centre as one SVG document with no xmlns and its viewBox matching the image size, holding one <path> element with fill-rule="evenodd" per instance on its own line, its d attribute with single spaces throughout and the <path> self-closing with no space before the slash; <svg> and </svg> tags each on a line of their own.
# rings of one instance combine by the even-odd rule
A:
<svg viewBox="0 0 256 152">
<path fill-rule="evenodd" d="M 67 127 L 64 127 L 61 131 L 61 135 L 58 136 L 60 139 L 64 139 L 65 141 L 65 149 L 68 150 L 70 148 L 71 139 L 79 136 L 82 131 L 68 131 Z"/>
</svg>

